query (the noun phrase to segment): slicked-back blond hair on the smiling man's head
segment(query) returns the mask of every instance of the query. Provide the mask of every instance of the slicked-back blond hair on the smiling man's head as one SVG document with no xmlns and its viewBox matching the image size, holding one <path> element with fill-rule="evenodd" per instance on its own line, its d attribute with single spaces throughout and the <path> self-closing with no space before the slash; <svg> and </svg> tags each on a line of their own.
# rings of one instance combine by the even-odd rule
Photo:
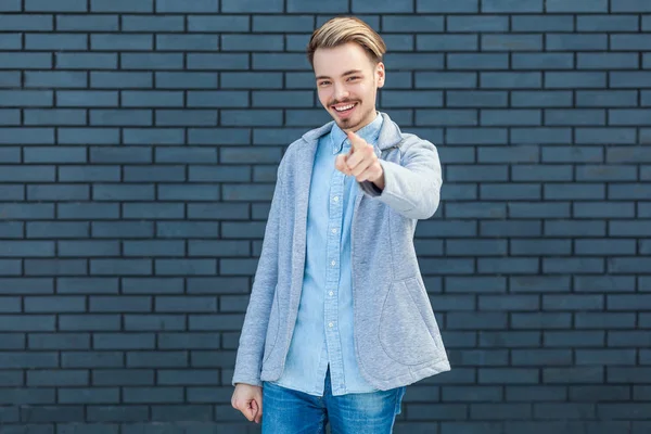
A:
<svg viewBox="0 0 651 434">
<path fill-rule="evenodd" d="M 386 44 L 382 37 L 363 21 L 355 16 L 337 16 L 316 29 L 307 44 L 307 59 L 314 67 L 315 51 L 355 42 L 365 49 L 374 64 L 382 62 Z"/>
</svg>

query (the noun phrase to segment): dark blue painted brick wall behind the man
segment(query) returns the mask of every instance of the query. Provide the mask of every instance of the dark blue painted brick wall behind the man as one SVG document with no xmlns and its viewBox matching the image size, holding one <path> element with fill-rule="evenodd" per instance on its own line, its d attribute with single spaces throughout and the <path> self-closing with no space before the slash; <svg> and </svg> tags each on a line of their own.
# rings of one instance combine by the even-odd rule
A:
<svg viewBox="0 0 651 434">
<path fill-rule="evenodd" d="M 396 432 L 651 432 L 651 1 L 2 0 L 2 434 L 258 432 L 239 330 L 348 13 L 444 166 L 416 244 L 454 369 Z"/>
</svg>

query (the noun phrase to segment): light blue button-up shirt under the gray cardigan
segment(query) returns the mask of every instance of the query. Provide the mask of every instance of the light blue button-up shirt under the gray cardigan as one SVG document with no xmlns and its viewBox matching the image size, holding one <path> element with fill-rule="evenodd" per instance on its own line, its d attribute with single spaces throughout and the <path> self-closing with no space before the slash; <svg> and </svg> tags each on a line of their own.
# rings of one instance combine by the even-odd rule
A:
<svg viewBox="0 0 651 434">
<path fill-rule="evenodd" d="M 375 145 L 383 118 L 357 131 Z M 333 395 L 374 392 L 359 373 L 353 337 L 353 276 L 350 226 L 355 197 L 361 194 L 355 177 L 335 168 L 350 142 L 336 125 L 319 140 L 307 210 L 305 277 L 296 327 L 285 368 L 276 384 L 322 396 L 330 368 Z"/>
</svg>

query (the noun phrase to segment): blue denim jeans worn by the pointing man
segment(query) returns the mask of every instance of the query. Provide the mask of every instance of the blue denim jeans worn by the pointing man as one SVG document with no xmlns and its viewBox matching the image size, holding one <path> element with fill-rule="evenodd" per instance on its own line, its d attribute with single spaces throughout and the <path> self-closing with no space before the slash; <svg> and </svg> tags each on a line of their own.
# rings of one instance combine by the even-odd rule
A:
<svg viewBox="0 0 651 434">
<path fill-rule="evenodd" d="M 391 434 L 406 387 L 333 396 L 330 372 L 322 397 L 263 385 L 263 434 Z"/>
</svg>

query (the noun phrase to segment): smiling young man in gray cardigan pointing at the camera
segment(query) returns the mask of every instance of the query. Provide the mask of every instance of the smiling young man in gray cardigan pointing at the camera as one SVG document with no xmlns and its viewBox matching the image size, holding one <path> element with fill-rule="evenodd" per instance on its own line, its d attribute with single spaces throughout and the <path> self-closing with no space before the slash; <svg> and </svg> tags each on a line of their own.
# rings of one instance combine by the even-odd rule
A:
<svg viewBox="0 0 651 434">
<path fill-rule="evenodd" d="M 232 405 L 263 433 L 391 433 L 406 385 L 450 369 L 413 247 L 441 164 L 375 110 L 385 44 L 367 24 L 333 18 L 307 51 L 334 120 L 279 165 Z"/>
</svg>

